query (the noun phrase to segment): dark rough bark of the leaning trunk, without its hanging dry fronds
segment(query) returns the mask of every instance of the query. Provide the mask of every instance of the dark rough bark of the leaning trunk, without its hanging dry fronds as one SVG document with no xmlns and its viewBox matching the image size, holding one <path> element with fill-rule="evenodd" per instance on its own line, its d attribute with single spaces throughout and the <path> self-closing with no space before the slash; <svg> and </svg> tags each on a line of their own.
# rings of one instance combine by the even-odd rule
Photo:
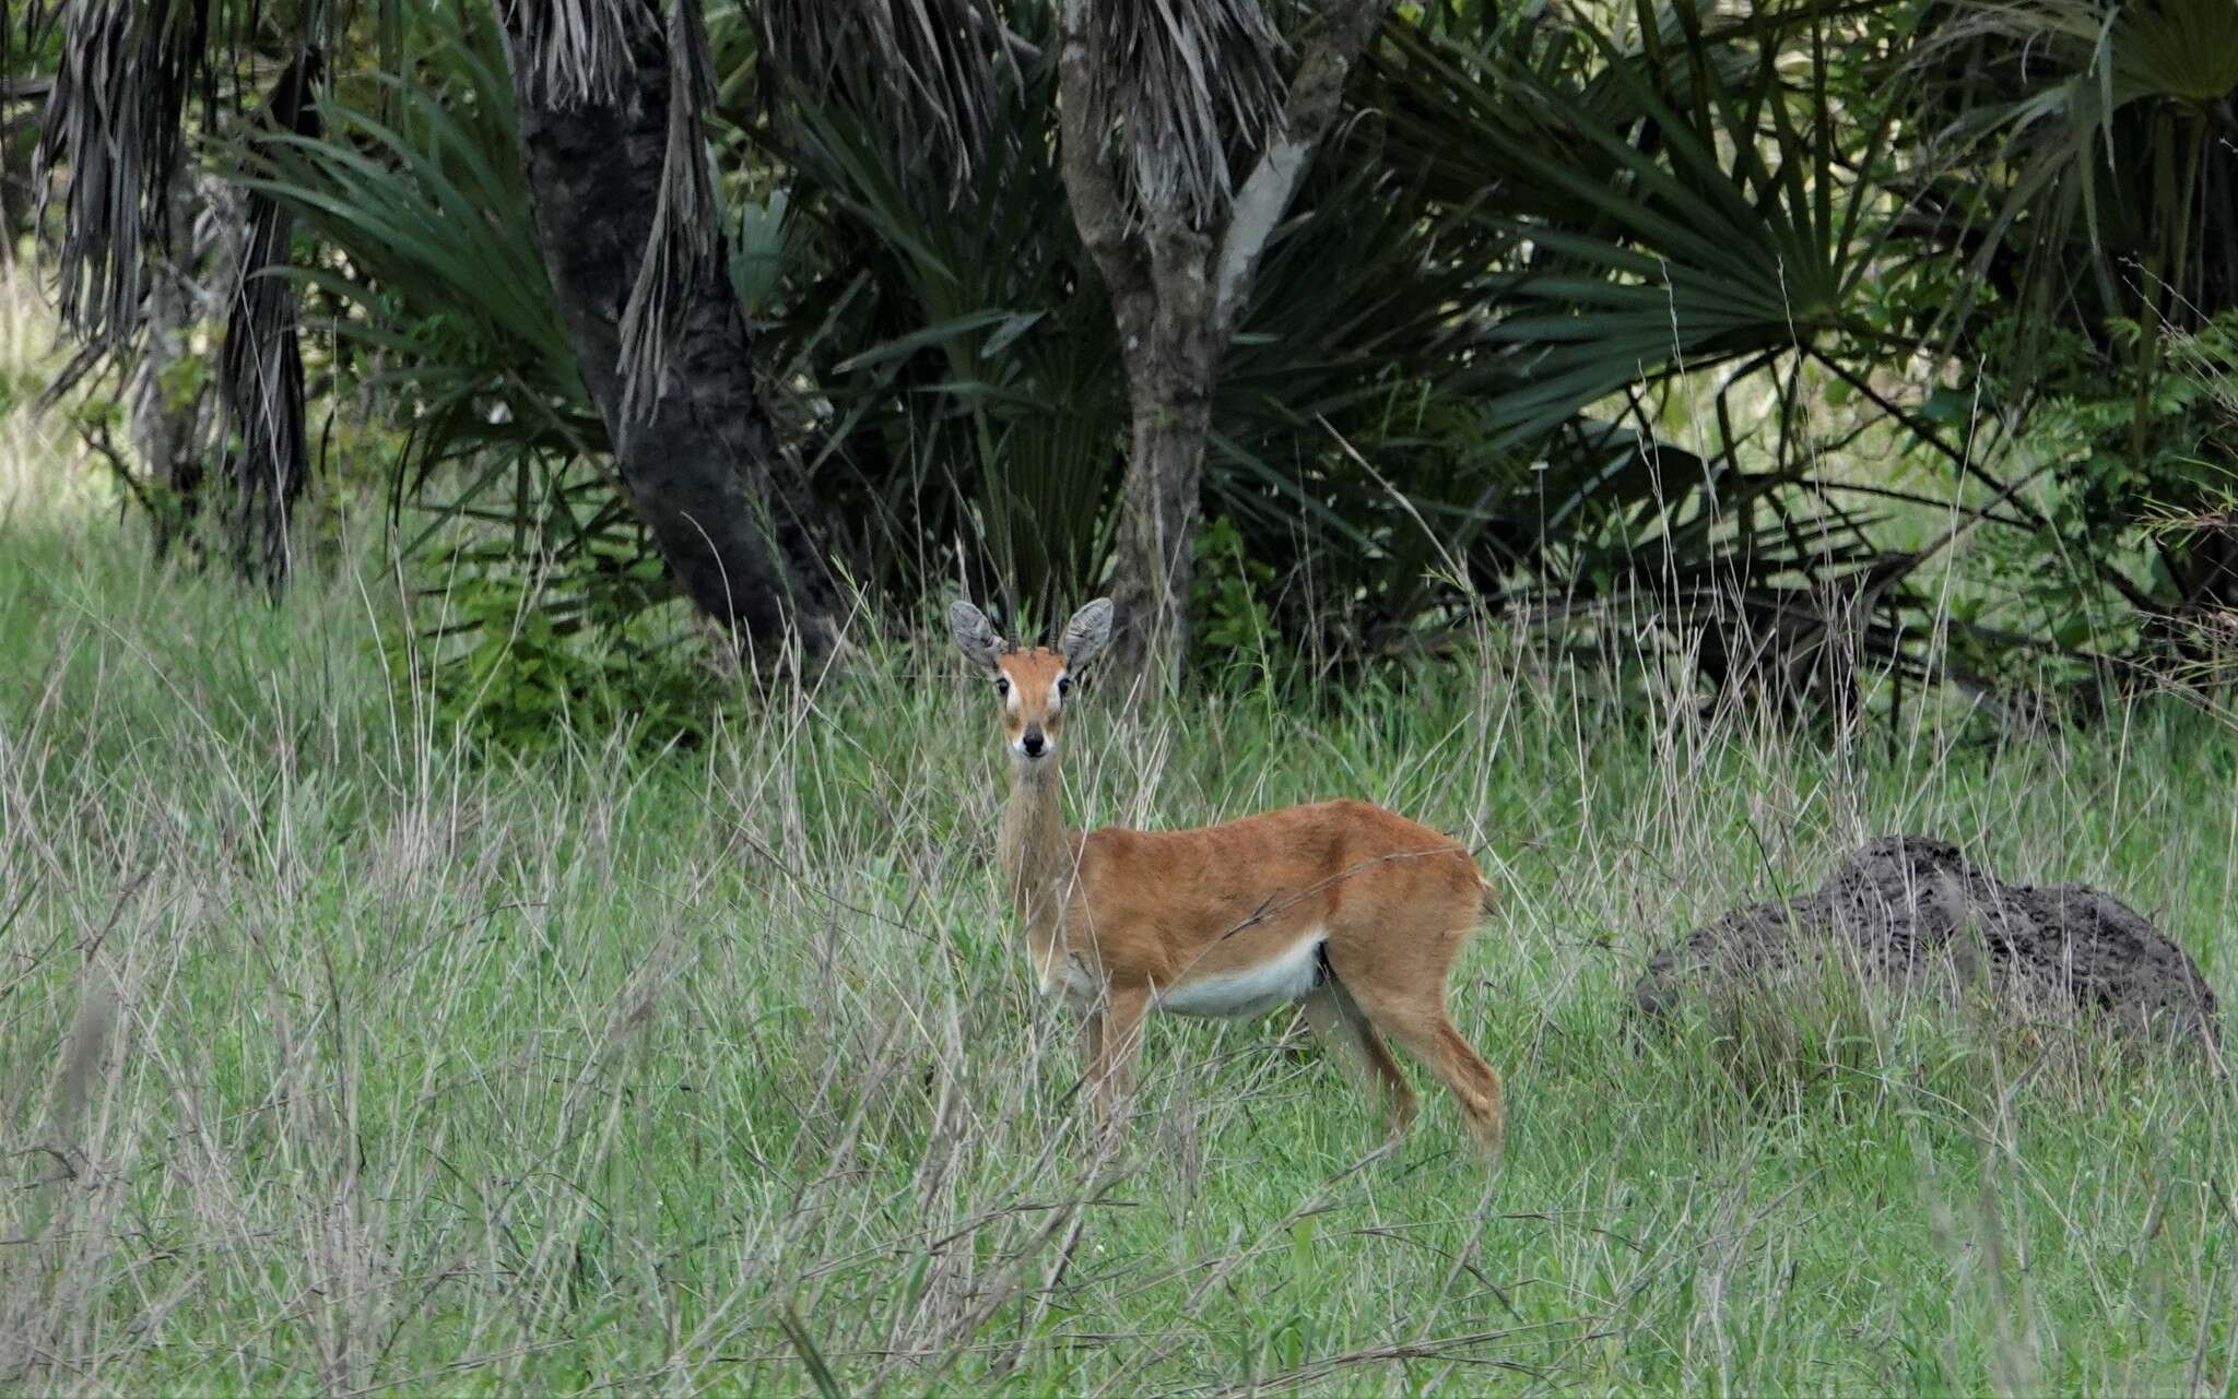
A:
<svg viewBox="0 0 2238 1399">
<path fill-rule="evenodd" d="M 687 271 L 665 365 L 624 410 L 622 311 L 645 266 L 669 145 L 671 63 L 658 18 L 629 25 L 627 72 L 606 92 L 557 92 L 506 38 L 537 246 L 615 468 L 683 591 L 741 645 L 774 658 L 833 642 L 833 589 L 754 389 L 754 347 L 727 257 Z M 651 13 L 651 7 L 647 7 Z"/>
</svg>

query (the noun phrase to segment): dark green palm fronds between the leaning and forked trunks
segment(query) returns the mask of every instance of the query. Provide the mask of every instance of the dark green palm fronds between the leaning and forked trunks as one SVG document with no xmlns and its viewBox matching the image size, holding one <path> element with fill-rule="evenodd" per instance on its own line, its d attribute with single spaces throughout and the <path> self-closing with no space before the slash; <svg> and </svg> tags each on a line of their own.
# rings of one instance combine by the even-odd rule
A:
<svg viewBox="0 0 2238 1399">
<path fill-rule="evenodd" d="M 1036 38 L 1027 20 L 1018 40 Z M 864 522 L 864 578 L 913 593 L 962 551 L 974 586 L 1027 616 L 1097 578 L 1123 378 L 1056 170 L 1056 74 L 994 49 L 980 63 L 998 101 L 953 184 L 895 150 L 891 94 L 772 94 L 783 114 L 763 139 L 794 177 L 808 280 L 763 345 L 828 405 L 803 423 L 808 459 Z"/>
</svg>

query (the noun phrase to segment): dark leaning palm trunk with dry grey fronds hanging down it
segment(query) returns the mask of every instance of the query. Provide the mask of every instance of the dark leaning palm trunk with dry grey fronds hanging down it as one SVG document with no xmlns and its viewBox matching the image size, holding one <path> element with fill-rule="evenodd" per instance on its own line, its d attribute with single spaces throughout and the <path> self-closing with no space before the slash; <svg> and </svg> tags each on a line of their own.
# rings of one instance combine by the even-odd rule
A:
<svg viewBox="0 0 2238 1399">
<path fill-rule="evenodd" d="M 501 11 L 537 246 L 631 501 L 700 609 L 821 651 L 833 591 L 727 275 L 698 0 Z"/>
</svg>

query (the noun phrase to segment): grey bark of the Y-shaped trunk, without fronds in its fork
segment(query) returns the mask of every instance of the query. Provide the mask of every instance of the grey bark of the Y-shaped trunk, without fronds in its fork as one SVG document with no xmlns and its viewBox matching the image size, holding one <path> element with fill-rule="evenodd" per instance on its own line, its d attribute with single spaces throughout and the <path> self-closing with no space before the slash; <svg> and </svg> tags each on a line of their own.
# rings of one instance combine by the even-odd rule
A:
<svg viewBox="0 0 2238 1399">
<path fill-rule="evenodd" d="M 1179 680 L 1188 645 L 1197 506 L 1213 389 L 1260 257 L 1343 107 L 1345 78 L 1390 11 L 1390 0 L 1327 0 L 1300 45 L 1282 130 L 1215 226 L 1177 204 L 1128 208 L 1097 101 L 1090 11 L 1063 0 L 1059 18 L 1059 139 L 1065 195 L 1081 242 L 1110 289 L 1126 365 L 1130 443 L 1112 566 L 1112 658 L 1146 689 Z"/>
</svg>

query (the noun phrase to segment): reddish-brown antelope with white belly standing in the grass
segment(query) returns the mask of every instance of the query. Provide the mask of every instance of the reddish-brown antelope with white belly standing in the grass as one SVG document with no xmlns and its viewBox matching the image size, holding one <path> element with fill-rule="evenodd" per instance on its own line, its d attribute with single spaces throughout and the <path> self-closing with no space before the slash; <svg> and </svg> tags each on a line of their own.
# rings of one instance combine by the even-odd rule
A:
<svg viewBox="0 0 2238 1399">
<path fill-rule="evenodd" d="M 1303 1003 L 1383 1086 L 1392 1133 L 1414 1090 L 1383 1036 L 1446 1081 L 1491 1159 L 1499 1074 L 1446 1016 L 1446 980 L 1493 909 L 1450 837 L 1370 801 L 1316 801 L 1195 830 L 1070 830 L 1059 761 L 1072 678 L 1110 640 L 1112 604 L 1065 625 L 1059 647 L 1005 642 L 980 609 L 949 629 L 987 672 L 1009 750 L 1000 864 L 1041 987 L 1083 1016 L 1088 1086 L 1119 1119 L 1144 1016 L 1253 1016 Z"/>
</svg>

